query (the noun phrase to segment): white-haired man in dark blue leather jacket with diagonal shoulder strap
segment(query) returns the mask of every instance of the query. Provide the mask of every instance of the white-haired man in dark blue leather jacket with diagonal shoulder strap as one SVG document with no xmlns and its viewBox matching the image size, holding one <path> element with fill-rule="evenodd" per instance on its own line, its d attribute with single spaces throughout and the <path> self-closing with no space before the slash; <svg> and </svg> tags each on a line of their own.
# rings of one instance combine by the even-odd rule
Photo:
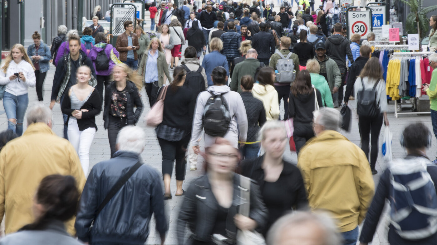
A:
<svg viewBox="0 0 437 245">
<path fill-rule="evenodd" d="M 142 245 L 154 214 L 164 244 L 167 223 L 162 181 L 155 169 L 142 163 L 140 154 L 145 146 L 142 128 L 126 126 L 118 133 L 114 157 L 91 169 L 75 224 L 82 242 Z"/>
</svg>

